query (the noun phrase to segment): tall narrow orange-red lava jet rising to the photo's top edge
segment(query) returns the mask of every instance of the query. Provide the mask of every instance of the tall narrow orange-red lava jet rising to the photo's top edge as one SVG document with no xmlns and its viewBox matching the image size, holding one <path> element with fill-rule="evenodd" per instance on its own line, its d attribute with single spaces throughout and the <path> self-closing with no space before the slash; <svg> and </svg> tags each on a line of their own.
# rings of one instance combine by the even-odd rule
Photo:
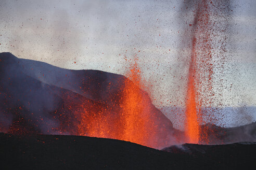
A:
<svg viewBox="0 0 256 170">
<path fill-rule="evenodd" d="M 208 11 L 207 0 L 202 0 L 201 3 L 197 4 L 195 13 L 194 23 L 189 24 L 193 26 L 192 36 L 192 48 L 191 48 L 191 59 L 189 65 L 188 75 L 188 86 L 187 86 L 187 101 L 186 101 L 186 136 L 188 137 L 189 143 L 198 143 L 200 137 L 200 119 L 198 109 L 200 109 L 200 103 L 198 100 L 197 86 L 196 83 L 199 81 L 198 65 L 199 62 L 207 62 L 206 66 L 209 68 L 209 78 L 211 80 L 212 68 L 210 62 L 211 46 L 209 45 L 209 11 Z M 201 50 L 199 52 L 198 50 Z M 201 60 L 201 54 L 204 54 L 206 61 Z M 207 55 L 205 55 L 207 54 Z"/>
</svg>

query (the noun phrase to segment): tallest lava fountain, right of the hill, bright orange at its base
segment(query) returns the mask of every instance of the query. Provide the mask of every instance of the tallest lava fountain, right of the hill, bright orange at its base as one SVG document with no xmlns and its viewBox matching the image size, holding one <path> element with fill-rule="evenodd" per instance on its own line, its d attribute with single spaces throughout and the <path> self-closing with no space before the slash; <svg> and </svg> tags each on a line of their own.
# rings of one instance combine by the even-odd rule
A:
<svg viewBox="0 0 256 170">
<path fill-rule="evenodd" d="M 211 54 L 211 21 L 210 9 L 207 0 L 198 2 L 192 30 L 192 47 L 190 54 L 188 85 L 186 96 L 186 123 L 185 134 L 189 143 L 207 141 L 207 135 L 200 129 L 202 123 L 202 104 L 211 103 L 212 90 L 212 54 Z M 202 97 L 200 92 L 203 92 Z"/>
</svg>

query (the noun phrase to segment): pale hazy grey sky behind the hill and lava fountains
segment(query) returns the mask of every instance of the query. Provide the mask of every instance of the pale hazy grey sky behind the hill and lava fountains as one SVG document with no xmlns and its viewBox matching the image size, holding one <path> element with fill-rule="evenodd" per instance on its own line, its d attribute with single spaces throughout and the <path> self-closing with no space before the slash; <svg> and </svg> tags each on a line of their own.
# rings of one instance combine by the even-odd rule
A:
<svg viewBox="0 0 256 170">
<path fill-rule="evenodd" d="M 223 0 L 224 1 L 224 0 Z M 215 103 L 256 105 L 256 1 L 232 1 L 223 72 L 215 68 Z M 184 105 L 193 22 L 183 1 L 0 0 L 0 52 L 69 69 L 125 74 L 134 55 L 157 106 Z M 221 25 L 219 25 L 221 26 Z M 217 61 L 218 45 L 215 41 Z M 213 46 L 214 47 L 214 46 Z M 171 103 L 170 103 L 171 101 Z"/>
</svg>

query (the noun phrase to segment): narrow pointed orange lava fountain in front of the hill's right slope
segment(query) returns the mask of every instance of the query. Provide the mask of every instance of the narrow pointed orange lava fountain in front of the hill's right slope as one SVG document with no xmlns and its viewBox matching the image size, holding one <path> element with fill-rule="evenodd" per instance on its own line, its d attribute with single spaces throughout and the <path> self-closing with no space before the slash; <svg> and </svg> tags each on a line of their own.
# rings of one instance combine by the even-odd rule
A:
<svg viewBox="0 0 256 170">
<path fill-rule="evenodd" d="M 135 56 L 134 64 L 130 67 L 130 73 L 126 75 L 132 81 L 127 79 L 123 90 L 122 120 L 124 132 L 122 140 L 147 145 L 149 133 L 153 133 L 153 131 L 149 132 L 150 129 L 146 126 L 150 118 L 144 114 L 146 104 L 143 103 L 143 93 L 140 90 L 142 77 L 137 60 L 138 58 Z"/>
</svg>

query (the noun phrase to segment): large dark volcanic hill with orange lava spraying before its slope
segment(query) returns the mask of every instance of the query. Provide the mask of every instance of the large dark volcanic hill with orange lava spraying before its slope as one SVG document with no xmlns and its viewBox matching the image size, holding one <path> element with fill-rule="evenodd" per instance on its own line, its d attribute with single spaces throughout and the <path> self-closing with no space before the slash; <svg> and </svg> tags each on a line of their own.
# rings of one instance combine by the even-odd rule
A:
<svg viewBox="0 0 256 170">
<path fill-rule="evenodd" d="M 0 131 L 132 141 L 153 148 L 176 142 L 172 122 L 122 75 L 69 70 L 0 54 Z"/>
</svg>

